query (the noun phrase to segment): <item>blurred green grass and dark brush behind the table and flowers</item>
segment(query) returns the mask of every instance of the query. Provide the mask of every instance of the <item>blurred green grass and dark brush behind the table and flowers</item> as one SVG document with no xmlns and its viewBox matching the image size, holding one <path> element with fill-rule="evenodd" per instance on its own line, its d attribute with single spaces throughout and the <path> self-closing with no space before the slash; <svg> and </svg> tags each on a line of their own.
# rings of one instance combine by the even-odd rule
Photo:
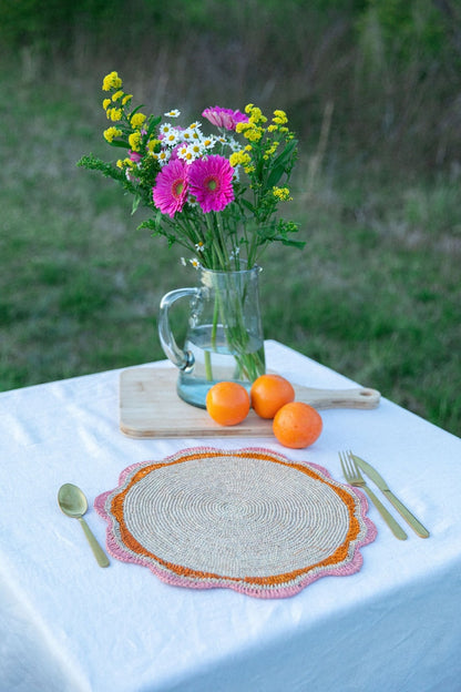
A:
<svg viewBox="0 0 461 692">
<path fill-rule="evenodd" d="M 163 358 L 158 302 L 195 283 L 76 167 L 116 159 L 115 70 L 185 123 L 287 112 L 306 247 L 265 255 L 266 338 L 461 435 L 458 0 L 0 0 L 0 389 Z"/>
</svg>

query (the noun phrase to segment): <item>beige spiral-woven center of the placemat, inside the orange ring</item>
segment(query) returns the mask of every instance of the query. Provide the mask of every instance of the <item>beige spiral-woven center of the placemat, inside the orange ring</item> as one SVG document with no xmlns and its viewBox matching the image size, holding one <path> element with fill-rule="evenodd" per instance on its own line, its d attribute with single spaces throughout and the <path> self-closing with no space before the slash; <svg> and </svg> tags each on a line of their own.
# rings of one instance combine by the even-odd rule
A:
<svg viewBox="0 0 461 692">
<path fill-rule="evenodd" d="M 345 502 L 318 478 L 228 455 L 155 469 L 130 488 L 123 513 L 134 539 L 161 560 L 229 578 L 316 564 L 349 528 Z"/>
</svg>

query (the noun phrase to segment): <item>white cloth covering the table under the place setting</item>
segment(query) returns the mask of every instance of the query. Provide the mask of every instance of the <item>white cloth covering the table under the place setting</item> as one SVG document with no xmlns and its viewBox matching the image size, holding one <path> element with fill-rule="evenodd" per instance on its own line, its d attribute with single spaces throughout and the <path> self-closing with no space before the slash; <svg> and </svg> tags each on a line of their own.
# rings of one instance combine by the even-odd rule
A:
<svg viewBox="0 0 461 692">
<path fill-rule="evenodd" d="M 276 342 L 268 366 L 313 387 L 354 386 Z M 165 363 L 157 364 L 164 367 Z M 125 437 L 119 375 L 109 372 L 0 395 L 0 690 L 2 692 L 424 692 L 461 690 L 461 440 L 382 398 L 373 410 L 321 413 L 305 450 L 265 446 L 326 467 L 352 448 L 429 528 L 398 541 L 373 507 L 375 542 L 349 577 L 294 598 L 171 587 L 111 558 L 98 567 L 79 522 L 61 513 L 63 482 L 94 498 L 127 466 L 203 439 Z M 373 383 L 361 383 L 373 386 Z M 398 516 L 397 516 L 398 517 Z"/>
</svg>

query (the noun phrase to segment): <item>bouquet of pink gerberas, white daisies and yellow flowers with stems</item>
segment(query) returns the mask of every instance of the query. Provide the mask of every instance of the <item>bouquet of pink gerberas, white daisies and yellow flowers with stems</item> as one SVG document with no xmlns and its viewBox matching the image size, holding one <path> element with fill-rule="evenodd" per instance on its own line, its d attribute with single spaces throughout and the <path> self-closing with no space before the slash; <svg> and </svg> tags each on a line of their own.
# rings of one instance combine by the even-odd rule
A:
<svg viewBox="0 0 461 692">
<path fill-rule="evenodd" d="M 106 163 L 90 154 L 78 165 L 120 183 L 133 195 L 133 212 L 140 204 L 151 210 L 140 228 L 150 228 L 170 245 L 182 245 L 188 253 L 183 263 L 208 272 L 205 284 L 213 273 L 226 273 L 230 281 L 235 273 L 254 271 L 273 242 L 304 246 L 293 238 L 296 223 L 277 215 L 279 205 L 291 200 L 287 185 L 297 159 L 297 142 L 284 111 L 276 110 L 268 120 L 254 104 L 244 112 L 207 108 L 202 116 L 215 128 L 209 134 L 198 121 L 185 128 L 175 124 L 177 110 L 146 115 L 142 105 L 133 105 L 116 72 L 104 78 L 102 89 L 107 92 L 103 108 L 111 123 L 104 138 L 122 155 Z M 214 379 L 209 354 L 223 348 L 216 340 L 219 332 L 235 357 L 235 378 L 253 380 L 264 372 L 260 348 L 248 350 L 252 335 L 242 311 L 247 291 L 215 293 L 209 343 L 203 348 L 207 381 Z M 173 345 L 175 352 L 174 339 Z M 168 356 L 170 350 L 165 349 Z M 185 358 L 176 365 L 192 368 Z"/>
</svg>

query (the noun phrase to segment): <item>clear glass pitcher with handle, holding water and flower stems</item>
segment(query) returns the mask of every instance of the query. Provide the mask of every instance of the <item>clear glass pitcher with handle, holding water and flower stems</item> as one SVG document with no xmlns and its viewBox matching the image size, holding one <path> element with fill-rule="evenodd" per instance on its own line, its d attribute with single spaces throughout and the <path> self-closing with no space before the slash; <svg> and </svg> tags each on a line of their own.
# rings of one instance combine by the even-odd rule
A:
<svg viewBox="0 0 461 692">
<path fill-rule="evenodd" d="M 237 381 L 249 390 L 264 374 L 259 271 L 202 268 L 199 286 L 177 288 L 163 296 L 160 340 L 180 370 L 177 394 L 188 404 L 205 408 L 206 394 L 217 381 Z M 191 314 L 184 348 L 180 348 L 170 326 L 170 308 L 184 297 L 189 298 Z"/>
</svg>

